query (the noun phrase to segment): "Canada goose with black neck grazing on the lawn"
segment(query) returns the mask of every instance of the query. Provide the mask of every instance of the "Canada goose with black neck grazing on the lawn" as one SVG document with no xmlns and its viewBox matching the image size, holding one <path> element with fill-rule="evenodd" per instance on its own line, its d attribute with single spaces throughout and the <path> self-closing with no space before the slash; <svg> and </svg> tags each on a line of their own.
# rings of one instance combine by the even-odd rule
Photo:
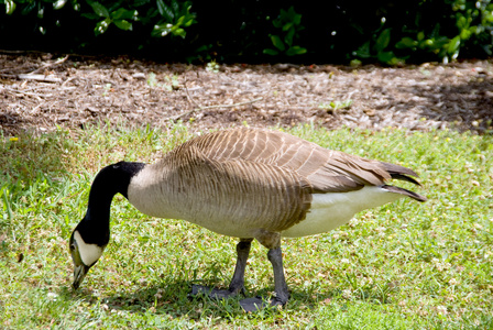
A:
<svg viewBox="0 0 493 330">
<path fill-rule="evenodd" d="M 275 297 L 286 304 L 281 238 L 327 232 L 357 212 L 416 193 L 385 184 L 401 179 L 419 185 L 409 168 L 361 158 L 278 131 L 239 128 L 205 134 L 177 146 L 155 164 L 120 162 L 102 168 L 89 193 L 86 216 L 70 237 L 75 264 L 73 287 L 101 256 L 110 239 L 110 205 L 117 193 L 141 212 L 184 219 L 220 234 L 240 239 L 228 289 L 194 286 L 216 298 L 243 290 L 250 245 L 256 239 L 269 249 Z M 240 301 L 245 310 L 262 307 L 262 298 Z"/>
</svg>

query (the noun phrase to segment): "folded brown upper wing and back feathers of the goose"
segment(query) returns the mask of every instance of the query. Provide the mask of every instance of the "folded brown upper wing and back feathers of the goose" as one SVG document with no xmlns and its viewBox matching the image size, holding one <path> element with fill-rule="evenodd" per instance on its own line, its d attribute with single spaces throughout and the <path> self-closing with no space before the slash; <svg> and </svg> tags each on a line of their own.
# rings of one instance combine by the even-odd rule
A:
<svg viewBox="0 0 493 330">
<path fill-rule="evenodd" d="M 391 178 L 407 179 L 413 170 L 394 164 L 370 161 L 330 151 L 303 139 L 260 129 L 232 129 L 196 138 L 194 145 L 216 161 L 243 160 L 275 165 L 306 178 L 315 193 L 343 193 L 365 185 L 380 186 Z"/>
</svg>

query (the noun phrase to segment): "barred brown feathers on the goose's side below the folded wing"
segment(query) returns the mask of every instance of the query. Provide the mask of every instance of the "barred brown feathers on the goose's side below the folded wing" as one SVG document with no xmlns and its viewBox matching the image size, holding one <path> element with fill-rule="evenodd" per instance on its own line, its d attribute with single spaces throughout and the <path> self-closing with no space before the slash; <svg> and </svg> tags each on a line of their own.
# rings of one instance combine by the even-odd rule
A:
<svg viewBox="0 0 493 330">
<path fill-rule="evenodd" d="M 201 142 L 198 139 L 184 143 L 154 165 L 160 173 L 160 168 L 166 168 L 165 184 L 158 190 L 166 195 L 165 200 L 174 200 L 171 209 L 173 205 L 179 206 L 174 213 L 179 219 L 224 234 L 231 233 L 211 228 L 211 219 L 233 222 L 238 229 L 262 228 L 273 232 L 305 219 L 313 193 L 306 178 L 273 164 L 207 156 L 198 147 Z M 209 219 L 210 223 L 201 223 L 194 215 Z"/>
</svg>

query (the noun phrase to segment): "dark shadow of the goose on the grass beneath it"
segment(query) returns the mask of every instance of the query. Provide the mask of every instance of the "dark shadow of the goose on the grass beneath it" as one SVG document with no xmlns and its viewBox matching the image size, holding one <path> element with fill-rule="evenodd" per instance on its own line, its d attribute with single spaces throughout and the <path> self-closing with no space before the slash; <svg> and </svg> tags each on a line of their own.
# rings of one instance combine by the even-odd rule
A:
<svg viewBox="0 0 493 330">
<path fill-rule="evenodd" d="M 64 287 L 61 292 L 66 299 L 85 298 L 89 304 L 101 304 L 102 308 L 113 312 L 132 312 L 163 315 L 172 318 L 188 317 L 189 319 L 199 319 L 204 311 L 212 312 L 221 318 L 231 318 L 244 314 L 240 306 L 240 300 L 249 297 L 262 296 L 269 297 L 273 287 L 267 286 L 256 292 L 246 290 L 245 295 L 239 295 L 228 299 L 213 299 L 205 295 L 190 297 L 191 285 L 199 284 L 197 280 L 174 280 L 167 284 L 155 284 L 140 290 L 125 290 L 124 288 L 107 295 L 95 295 L 92 290 L 81 289 L 74 293 L 70 287 Z M 200 283 L 201 284 L 201 283 Z M 324 292 L 303 290 L 293 287 L 291 299 L 283 308 L 284 310 L 310 309 L 316 310 L 332 298 L 340 297 L 342 292 L 333 288 Z M 369 296 L 362 295 L 354 300 L 368 301 Z M 380 299 L 376 299 L 380 300 Z M 388 302 L 388 301 L 380 301 Z M 348 301 L 350 304 L 350 301 Z M 266 308 L 264 311 L 275 312 L 275 308 Z"/>
</svg>

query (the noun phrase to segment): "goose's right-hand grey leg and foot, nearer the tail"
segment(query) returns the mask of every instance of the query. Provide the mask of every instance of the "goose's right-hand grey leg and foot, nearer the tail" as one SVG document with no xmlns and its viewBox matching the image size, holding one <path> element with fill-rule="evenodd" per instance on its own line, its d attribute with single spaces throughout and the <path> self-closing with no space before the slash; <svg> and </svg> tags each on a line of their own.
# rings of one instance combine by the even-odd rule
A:
<svg viewBox="0 0 493 330">
<path fill-rule="evenodd" d="M 284 277 L 283 253 L 281 248 L 270 249 L 267 253 L 269 261 L 274 270 L 274 292 L 275 297 L 271 299 L 271 306 L 285 305 L 289 299 L 286 278 Z M 262 297 L 246 298 L 240 301 L 245 311 L 255 311 L 266 307 Z"/>
</svg>

